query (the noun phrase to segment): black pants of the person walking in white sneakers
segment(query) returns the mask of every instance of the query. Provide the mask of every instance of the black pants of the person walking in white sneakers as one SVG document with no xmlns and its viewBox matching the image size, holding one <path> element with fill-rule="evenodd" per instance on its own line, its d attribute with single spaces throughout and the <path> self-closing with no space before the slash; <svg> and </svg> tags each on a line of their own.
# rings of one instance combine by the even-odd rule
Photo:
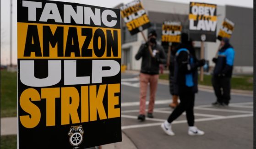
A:
<svg viewBox="0 0 256 149">
<path fill-rule="evenodd" d="M 186 118 L 189 126 L 194 126 L 194 103 L 195 93 L 192 91 L 192 87 L 179 88 L 180 104 L 174 109 L 168 118 L 168 122 L 172 123 L 178 118 L 184 111 L 186 111 Z"/>
</svg>

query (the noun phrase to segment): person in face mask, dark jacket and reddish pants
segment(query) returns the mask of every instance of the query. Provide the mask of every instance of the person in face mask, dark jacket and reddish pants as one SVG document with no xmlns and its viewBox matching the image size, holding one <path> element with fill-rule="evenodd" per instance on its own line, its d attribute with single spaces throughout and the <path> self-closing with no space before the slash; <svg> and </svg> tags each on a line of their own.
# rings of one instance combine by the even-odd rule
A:
<svg viewBox="0 0 256 149">
<path fill-rule="evenodd" d="M 163 47 L 157 44 L 156 31 L 148 33 L 148 41 L 140 46 L 135 59 L 142 58 L 140 71 L 140 112 L 138 119 L 145 120 L 147 86 L 150 87 L 150 99 L 147 110 L 147 117 L 153 118 L 155 96 L 158 86 L 159 64 L 166 63 L 166 54 Z"/>
</svg>

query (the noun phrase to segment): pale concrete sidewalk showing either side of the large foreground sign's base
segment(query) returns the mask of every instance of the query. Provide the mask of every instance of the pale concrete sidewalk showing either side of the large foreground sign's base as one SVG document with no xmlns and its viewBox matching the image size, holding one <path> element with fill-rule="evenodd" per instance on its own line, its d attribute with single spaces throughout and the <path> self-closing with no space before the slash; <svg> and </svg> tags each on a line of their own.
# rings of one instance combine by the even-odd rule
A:
<svg viewBox="0 0 256 149">
<path fill-rule="evenodd" d="M 17 134 L 17 118 L 1 118 L 1 136 Z M 137 149 L 131 140 L 122 132 L 122 142 L 106 144 L 102 149 Z"/>
</svg>

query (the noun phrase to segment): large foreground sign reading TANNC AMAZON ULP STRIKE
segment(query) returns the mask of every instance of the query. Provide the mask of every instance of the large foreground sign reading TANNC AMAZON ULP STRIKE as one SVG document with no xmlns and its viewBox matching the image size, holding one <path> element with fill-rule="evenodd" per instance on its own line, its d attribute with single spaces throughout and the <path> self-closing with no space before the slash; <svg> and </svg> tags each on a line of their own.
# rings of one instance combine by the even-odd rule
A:
<svg viewBox="0 0 256 149">
<path fill-rule="evenodd" d="M 120 10 L 17 0 L 19 149 L 121 141 Z"/>
</svg>

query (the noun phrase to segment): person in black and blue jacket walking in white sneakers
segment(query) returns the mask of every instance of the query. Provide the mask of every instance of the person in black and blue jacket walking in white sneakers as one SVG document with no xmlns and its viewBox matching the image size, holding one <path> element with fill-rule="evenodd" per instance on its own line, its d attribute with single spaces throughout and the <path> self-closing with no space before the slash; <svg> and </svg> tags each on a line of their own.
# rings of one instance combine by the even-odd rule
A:
<svg viewBox="0 0 256 149">
<path fill-rule="evenodd" d="M 194 102 L 197 88 L 197 68 L 205 64 L 205 60 L 197 60 L 195 49 L 192 41 L 188 40 L 188 35 L 181 34 L 181 44 L 177 47 L 175 54 L 174 66 L 174 83 L 177 85 L 177 90 L 180 97 L 180 104 L 169 115 L 169 118 L 161 124 L 161 128 L 168 135 L 174 135 L 171 123 L 178 118 L 184 111 L 186 112 L 187 123 L 189 125 L 189 135 L 203 135 L 204 132 L 199 130 L 195 123 L 194 117 Z"/>
</svg>

